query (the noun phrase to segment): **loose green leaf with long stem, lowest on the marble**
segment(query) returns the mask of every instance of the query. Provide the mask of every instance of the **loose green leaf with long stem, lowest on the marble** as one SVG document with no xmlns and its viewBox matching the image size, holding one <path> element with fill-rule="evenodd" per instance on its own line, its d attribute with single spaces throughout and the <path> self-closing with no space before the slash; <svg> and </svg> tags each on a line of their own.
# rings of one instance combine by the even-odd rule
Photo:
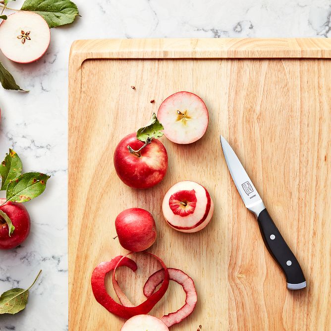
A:
<svg viewBox="0 0 331 331">
<path fill-rule="evenodd" d="M 36 279 L 28 289 L 12 288 L 9 291 L 3 292 L 0 296 L 0 314 L 16 314 L 23 310 L 28 303 L 29 289 L 37 281 L 39 272 Z"/>
</svg>

